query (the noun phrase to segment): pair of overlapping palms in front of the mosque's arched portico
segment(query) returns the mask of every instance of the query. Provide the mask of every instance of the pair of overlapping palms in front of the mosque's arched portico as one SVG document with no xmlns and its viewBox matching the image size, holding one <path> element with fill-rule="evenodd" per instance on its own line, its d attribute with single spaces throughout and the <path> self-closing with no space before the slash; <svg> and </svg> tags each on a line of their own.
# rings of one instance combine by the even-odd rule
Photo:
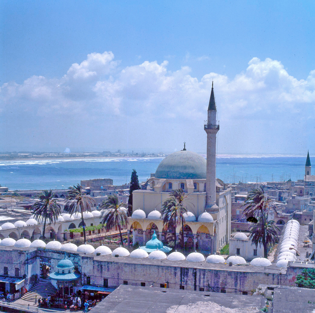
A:
<svg viewBox="0 0 315 313">
<path fill-rule="evenodd" d="M 170 195 L 170 198 L 164 201 L 161 210 L 163 224 L 174 228 L 174 248 L 176 248 L 176 227 L 181 222 L 181 241 L 184 248 L 184 213 L 187 213 L 184 201 L 187 196 L 181 188 L 172 190 Z"/>
</svg>

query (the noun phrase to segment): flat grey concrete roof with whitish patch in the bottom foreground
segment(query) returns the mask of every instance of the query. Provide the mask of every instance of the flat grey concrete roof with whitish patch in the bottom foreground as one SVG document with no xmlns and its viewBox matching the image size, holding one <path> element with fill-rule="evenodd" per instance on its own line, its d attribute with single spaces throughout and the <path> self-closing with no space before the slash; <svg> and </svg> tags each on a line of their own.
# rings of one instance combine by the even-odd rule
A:
<svg viewBox="0 0 315 313">
<path fill-rule="evenodd" d="M 263 296 L 120 285 L 91 313 L 258 313 Z"/>
</svg>

